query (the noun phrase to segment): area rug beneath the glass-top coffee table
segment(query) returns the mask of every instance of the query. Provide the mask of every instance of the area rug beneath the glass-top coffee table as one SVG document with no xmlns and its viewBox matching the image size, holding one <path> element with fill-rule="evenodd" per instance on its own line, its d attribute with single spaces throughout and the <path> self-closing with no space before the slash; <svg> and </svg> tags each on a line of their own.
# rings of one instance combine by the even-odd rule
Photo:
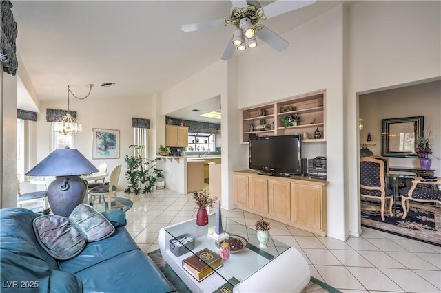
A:
<svg viewBox="0 0 441 293">
<path fill-rule="evenodd" d="M 147 255 L 156 263 L 159 270 L 163 272 L 165 277 L 167 278 L 172 285 L 176 288 L 176 290 L 180 293 L 192 293 L 192 291 L 189 290 L 187 285 L 179 278 L 179 276 L 170 268 L 170 265 L 168 265 L 161 254 L 160 250 L 154 250 L 152 252 L 147 253 Z M 336 290 L 334 287 L 331 287 L 327 285 L 326 283 L 323 283 L 322 281 L 315 279 L 311 276 L 311 281 L 309 284 L 305 287 L 305 289 L 302 290 L 302 293 L 337 293 L 340 292 Z"/>
</svg>

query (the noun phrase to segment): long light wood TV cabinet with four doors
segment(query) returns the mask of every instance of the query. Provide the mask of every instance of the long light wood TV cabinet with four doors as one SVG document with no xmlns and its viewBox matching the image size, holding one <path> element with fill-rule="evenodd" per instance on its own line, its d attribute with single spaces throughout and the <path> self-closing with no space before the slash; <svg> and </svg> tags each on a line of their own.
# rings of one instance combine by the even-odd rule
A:
<svg viewBox="0 0 441 293">
<path fill-rule="evenodd" d="M 235 171 L 234 201 L 242 210 L 325 237 L 327 184 L 326 180 L 302 176 Z"/>
</svg>

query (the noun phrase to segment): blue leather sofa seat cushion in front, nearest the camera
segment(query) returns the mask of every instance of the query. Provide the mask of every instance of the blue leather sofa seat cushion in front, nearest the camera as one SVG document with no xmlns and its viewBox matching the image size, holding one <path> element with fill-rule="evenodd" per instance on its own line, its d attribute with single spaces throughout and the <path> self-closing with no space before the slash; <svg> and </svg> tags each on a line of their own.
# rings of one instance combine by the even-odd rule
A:
<svg viewBox="0 0 441 293">
<path fill-rule="evenodd" d="M 83 280 L 83 292 L 176 292 L 152 259 L 141 250 L 120 254 L 76 274 Z"/>
</svg>

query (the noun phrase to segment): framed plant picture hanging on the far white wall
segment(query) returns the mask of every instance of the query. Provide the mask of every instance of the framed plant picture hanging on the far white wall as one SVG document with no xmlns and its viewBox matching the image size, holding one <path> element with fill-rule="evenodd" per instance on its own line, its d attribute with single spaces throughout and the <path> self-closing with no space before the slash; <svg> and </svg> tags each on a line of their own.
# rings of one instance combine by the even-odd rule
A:
<svg viewBox="0 0 441 293">
<path fill-rule="evenodd" d="M 92 129 L 92 159 L 119 159 L 119 130 Z"/>
</svg>

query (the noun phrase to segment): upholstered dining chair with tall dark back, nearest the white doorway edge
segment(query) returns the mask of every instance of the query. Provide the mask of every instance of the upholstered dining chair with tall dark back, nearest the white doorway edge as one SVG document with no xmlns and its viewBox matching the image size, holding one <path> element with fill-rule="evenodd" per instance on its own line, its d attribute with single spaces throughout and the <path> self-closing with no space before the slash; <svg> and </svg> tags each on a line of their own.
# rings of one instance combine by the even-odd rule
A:
<svg viewBox="0 0 441 293">
<path fill-rule="evenodd" d="M 393 191 L 384 182 L 384 162 L 372 157 L 360 158 L 360 196 L 380 199 L 381 219 L 384 221 L 384 206 L 389 199 L 389 213 L 392 213 Z"/>
</svg>

